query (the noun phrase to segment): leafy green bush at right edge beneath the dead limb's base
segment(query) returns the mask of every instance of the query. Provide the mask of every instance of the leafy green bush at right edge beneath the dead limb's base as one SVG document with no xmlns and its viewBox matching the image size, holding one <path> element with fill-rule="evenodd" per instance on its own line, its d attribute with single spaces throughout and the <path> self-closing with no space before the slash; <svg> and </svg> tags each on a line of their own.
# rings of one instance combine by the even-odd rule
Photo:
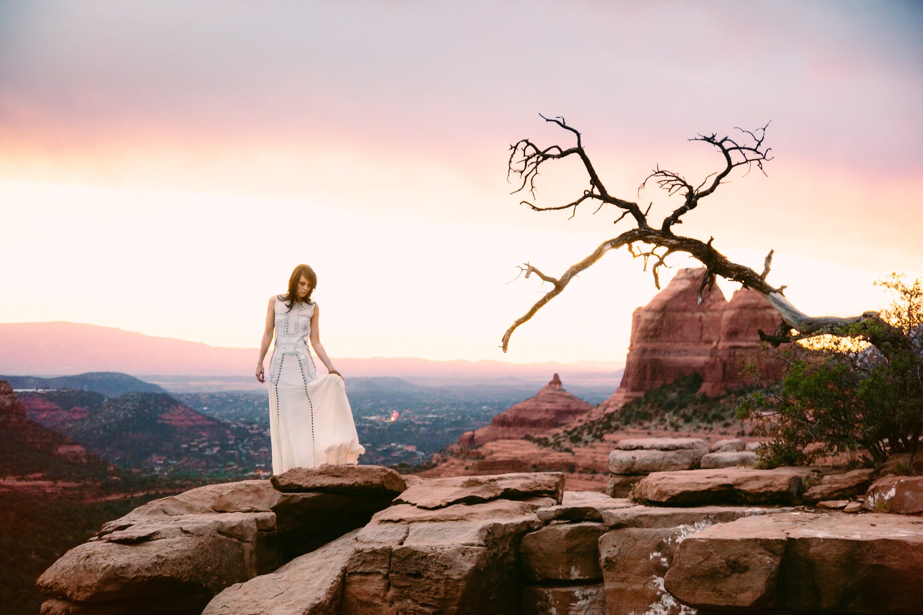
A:
<svg viewBox="0 0 923 615">
<path fill-rule="evenodd" d="M 761 465 L 809 464 L 839 452 L 882 462 L 898 452 L 917 452 L 923 434 L 923 288 L 903 274 L 876 282 L 896 294 L 881 320 L 904 336 L 886 348 L 862 343 L 862 332 L 837 332 L 783 354 L 781 383 L 753 392 L 738 407 L 756 419 L 771 440 L 761 446 Z M 868 339 L 866 337 L 865 339 Z M 751 368 L 752 369 L 752 368 Z M 870 457 L 870 459 L 869 459 Z"/>
</svg>

